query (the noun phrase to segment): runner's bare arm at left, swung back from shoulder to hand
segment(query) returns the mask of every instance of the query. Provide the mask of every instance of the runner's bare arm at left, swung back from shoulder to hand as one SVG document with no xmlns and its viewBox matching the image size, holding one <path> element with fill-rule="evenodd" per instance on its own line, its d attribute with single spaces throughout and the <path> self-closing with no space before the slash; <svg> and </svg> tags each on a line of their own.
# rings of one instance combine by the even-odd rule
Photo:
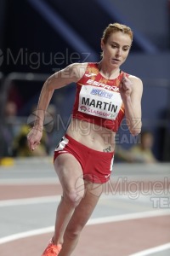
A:
<svg viewBox="0 0 170 256">
<path fill-rule="evenodd" d="M 43 84 L 37 104 L 37 113 L 34 126 L 29 132 L 28 145 L 31 150 L 37 148 L 42 138 L 42 127 L 45 112 L 54 94 L 54 90 L 64 87 L 66 84 L 76 83 L 85 73 L 87 63 L 74 63 L 57 73 L 51 75 Z"/>
</svg>

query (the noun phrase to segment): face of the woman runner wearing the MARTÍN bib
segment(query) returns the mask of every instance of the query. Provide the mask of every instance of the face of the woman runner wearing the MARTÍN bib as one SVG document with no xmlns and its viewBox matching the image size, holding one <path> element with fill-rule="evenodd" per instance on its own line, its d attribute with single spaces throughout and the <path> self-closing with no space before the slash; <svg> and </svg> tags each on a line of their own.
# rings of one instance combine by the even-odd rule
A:
<svg viewBox="0 0 170 256">
<path fill-rule="evenodd" d="M 111 66 L 120 67 L 127 59 L 131 44 L 132 40 L 128 34 L 113 32 L 105 44 L 101 41 L 103 60 Z"/>
</svg>

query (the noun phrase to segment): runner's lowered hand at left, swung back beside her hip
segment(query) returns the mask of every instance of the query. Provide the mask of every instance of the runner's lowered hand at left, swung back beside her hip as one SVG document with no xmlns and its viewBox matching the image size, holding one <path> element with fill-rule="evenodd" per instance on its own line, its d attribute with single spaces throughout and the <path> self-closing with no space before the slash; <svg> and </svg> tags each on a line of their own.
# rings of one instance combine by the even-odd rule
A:
<svg viewBox="0 0 170 256">
<path fill-rule="evenodd" d="M 40 144 L 42 128 L 33 127 L 27 135 L 28 147 L 33 151 Z"/>
</svg>

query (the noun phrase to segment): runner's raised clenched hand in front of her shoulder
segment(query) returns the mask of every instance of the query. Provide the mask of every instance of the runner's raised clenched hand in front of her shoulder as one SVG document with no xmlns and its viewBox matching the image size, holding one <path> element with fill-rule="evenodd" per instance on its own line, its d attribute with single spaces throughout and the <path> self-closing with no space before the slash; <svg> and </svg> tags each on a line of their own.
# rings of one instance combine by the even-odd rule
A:
<svg viewBox="0 0 170 256">
<path fill-rule="evenodd" d="M 131 96 L 133 91 L 133 83 L 125 75 L 123 75 L 122 81 L 119 85 L 119 91 L 122 96 L 122 101 L 126 100 L 128 96 Z"/>
</svg>

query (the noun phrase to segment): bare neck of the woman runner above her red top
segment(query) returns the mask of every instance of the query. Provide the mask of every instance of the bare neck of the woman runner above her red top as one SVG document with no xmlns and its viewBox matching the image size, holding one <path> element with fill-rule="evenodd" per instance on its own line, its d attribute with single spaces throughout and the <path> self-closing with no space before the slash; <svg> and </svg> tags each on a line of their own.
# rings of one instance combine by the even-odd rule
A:
<svg viewBox="0 0 170 256">
<path fill-rule="evenodd" d="M 111 65 L 107 65 L 104 61 L 99 61 L 99 73 L 105 77 L 105 79 L 116 79 L 120 74 L 120 68 L 113 68 Z"/>
</svg>

